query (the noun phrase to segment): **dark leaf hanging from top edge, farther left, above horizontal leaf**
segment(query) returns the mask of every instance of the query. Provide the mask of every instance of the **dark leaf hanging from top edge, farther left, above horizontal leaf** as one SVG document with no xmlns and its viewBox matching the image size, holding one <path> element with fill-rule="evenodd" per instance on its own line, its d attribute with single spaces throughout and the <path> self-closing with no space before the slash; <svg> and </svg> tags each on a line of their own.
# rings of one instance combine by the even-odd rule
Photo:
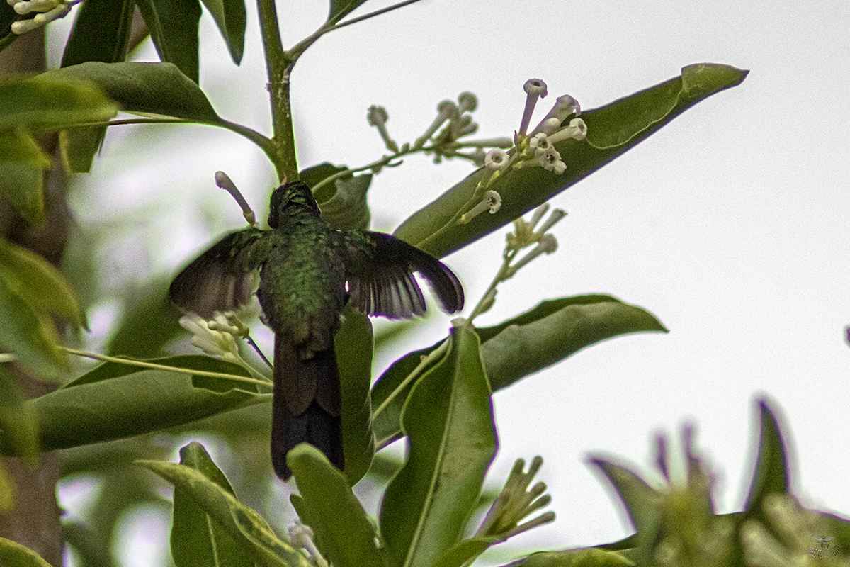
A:
<svg viewBox="0 0 850 567">
<path fill-rule="evenodd" d="M 127 59 L 133 22 L 132 0 L 86 0 L 77 10 L 62 65 L 86 61 L 117 63 Z"/>
</svg>

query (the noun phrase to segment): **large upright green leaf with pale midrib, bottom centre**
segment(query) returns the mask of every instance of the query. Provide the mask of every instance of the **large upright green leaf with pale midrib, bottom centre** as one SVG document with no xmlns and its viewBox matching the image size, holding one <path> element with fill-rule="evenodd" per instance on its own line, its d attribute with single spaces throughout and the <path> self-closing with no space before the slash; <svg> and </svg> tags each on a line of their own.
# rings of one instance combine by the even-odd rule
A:
<svg viewBox="0 0 850 567">
<path fill-rule="evenodd" d="M 389 564 L 431 565 L 460 541 L 496 455 L 490 384 L 474 332 L 456 328 L 449 353 L 402 412 L 407 462 L 381 506 Z"/>
</svg>

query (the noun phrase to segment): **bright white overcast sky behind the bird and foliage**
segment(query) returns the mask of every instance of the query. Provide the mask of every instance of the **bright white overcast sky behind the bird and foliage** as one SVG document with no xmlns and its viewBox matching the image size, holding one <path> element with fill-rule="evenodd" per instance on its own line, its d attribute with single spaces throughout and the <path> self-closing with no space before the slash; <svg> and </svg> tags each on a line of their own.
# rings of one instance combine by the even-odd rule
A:
<svg viewBox="0 0 850 567">
<path fill-rule="evenodd" d="M 366 3 L 355 15 L 383 5 Z M 326 17 L 325 3 L 280 8 L 287 47 Z M 256 8 L 248 10 L 239 68 L 204 14 L 201 86 L 221 116 L 269 133 Z M 761 394 L 784 417 L 797 494 L 810 507 L 850 515 L 848 25 L 845 0 L 805 8 L 426 0 L 335 31 L 298 62 L 292 99 L 302 167 L 357 167 L 382 156 L 366 122 L 370 105 L 387 108 L 400 144 L 422 133 L 439 100 L 470 90 L 479 96 L 475 137 L 490 138 L 519 127 L 522 85 L 532 77 L 549 86 L 542 116 L 559 94 L 591 109 L 675 77 L 684 65 L 751 70 L 739 87 L 692 107 L 555 197 L 553 206 L 569 213 L 553 230 L 558 252 L 501 285 L 495 307 L 476 321 L 496 324 L 542 299 L 604 292 L 649 309 L 671 331 L 598 344 L 496 394 L 501 447 L 490 478 L 501 482 L 517 457 L 543 456 L 539 479 L 558 514 L 504 550 L 592 545 L 631 533 L 587 455 L 616 456 L 655 481 L 654 434 L 666 431 L 678 443 L 686 420 L 696 423 L 698 446 L 720 473 L 718 511 L 739 510 Z M 147 49 L 144 59 L 154 58 Z M 145 262 L 164 273 L 208 243 L 205 226 L 223 232 L 244 223 L 212 173 L 229 173 L 262 210 L 273 173 L 235 134 L 148 130 L 144 152 L 127 138 L 130 130 L 111 133 L 94 173 L 80 181 L 77 209 L 82 222 L 138 210 L 139 234 L 165 247 Z M 370 192 L 373 228 L 393 230 L 471 170 L 424 156 L 385 170 Z M 150 218 L 150 207 L 166 199 L 169 212 Z M 498 269 L 506 232 L 445 259 L 464 284 L 468 309 Z M 433 317 L 410 349 L 448 326 L 448 317 Z M 389 362 L 377 360 L 376 370 Z"/>
</svg>

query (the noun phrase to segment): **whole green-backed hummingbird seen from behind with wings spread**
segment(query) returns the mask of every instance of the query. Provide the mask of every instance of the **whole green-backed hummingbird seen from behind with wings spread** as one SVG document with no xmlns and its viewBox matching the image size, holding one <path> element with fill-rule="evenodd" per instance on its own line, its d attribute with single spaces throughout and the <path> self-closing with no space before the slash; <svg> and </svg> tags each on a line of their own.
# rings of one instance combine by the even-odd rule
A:
<svg viewBox="0 0 850 567">
<path fill-rule="evenodd" d="M 437 258 L 392 235 L 333 228 L 320 218 L 309 186 L 293 181 L 271 195 L 269 230 L 225 235 L 174 278 L 168 293 L 178 308 L 212 318 L 250 303 L 256 288 L 263 323 L 275 332 L 271 461 L 286 481 L 286 453 L 303 442 L 344 469 L 334 350 L 340 313 L 351 303 L 390 319 L 422 315 L 414 272 L 446 312 L 463 308 L 460 281 Z"/>
</svg>

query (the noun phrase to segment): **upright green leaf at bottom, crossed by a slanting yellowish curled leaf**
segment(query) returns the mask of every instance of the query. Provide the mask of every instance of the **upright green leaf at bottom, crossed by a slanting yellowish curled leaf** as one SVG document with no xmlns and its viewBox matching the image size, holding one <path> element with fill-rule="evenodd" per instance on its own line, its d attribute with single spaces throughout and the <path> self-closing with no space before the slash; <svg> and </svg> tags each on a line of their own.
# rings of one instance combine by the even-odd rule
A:
<svg viewBox="0 0 850 567">
<path fill-rule="evenodd" d="M 235 496 L 224 473 L 212 462 L 203 445 L 192 442 L 180 449 L 180 463 L 194 468 L 207 479 Z M 253 559 L 201 508 L 183 486 L 174 487 L 174 514 L 171 528 L 171 555 L 177 567 L 228 565 L 253 567 Z"/>
</svg>

